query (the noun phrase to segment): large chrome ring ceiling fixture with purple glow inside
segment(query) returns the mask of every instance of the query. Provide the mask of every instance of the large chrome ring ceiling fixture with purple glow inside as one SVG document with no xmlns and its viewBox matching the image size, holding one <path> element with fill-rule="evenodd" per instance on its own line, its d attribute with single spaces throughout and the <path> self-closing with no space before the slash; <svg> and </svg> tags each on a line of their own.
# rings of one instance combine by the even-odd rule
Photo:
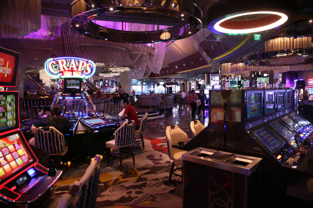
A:
<svg viewBox="0 0 313 208">
<path fill-rule="evenodd" d="M 192 36 L 202 27 L 202 11 L 189 0 L 84 0 L 85 7 L 82 1 L 74 1 L 71 5 L 71 26 L 76 32 L 91 38 L 125 43 L 158 43 Z M 111 28 L 95 23 L 96 20 L 112 19 L 122 24 Z M 143 24 L 154 22 L 151 25 L 156 27 L 149 31 L 131 31 L 126 27 L 126 21 L 131 24 L 131 21 L 142 19 L 145 20 Z M 159 26 L 165 24 L 169 26 L 160 29 Z"/>
</svg>

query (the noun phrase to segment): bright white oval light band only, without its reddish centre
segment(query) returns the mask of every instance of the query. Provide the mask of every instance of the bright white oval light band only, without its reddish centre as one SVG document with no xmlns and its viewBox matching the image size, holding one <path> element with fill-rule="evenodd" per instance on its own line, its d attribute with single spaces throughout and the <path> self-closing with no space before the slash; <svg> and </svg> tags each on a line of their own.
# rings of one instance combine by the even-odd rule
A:
<svg viewBox="0 0 313 208">
<path fill-rule="evenodd" d="M 276 22 L 274 22 L 272 24 L 265 25 L 265 26 L 262 26 L 262 27 L 250 28 L 250 29 L 233 30 L 233 29 L 227 29 L 227 28 L 223 28 L 223 27 L 219 26 L 222 22 L 224 22 L 226 20 L 229 20 L 229 19 L 232 19 L 232 18 L 235 18 L 235 17 L 244 16 L 244 15 L 249 15 L 249 14 L 275 14 L 275 15 L 280 16 L 281 18 L 278 21 L 276 21 Z M 214 29 L 216 31 L 223 32 L 223 33 L 229 33 L 229 34 L 253 33 L 253 32 L 259 32 L 259 31 L 269 30 L 269 29 L 278 27 L 278 26 L 284 24 L 287 20 L 288 20 L 287 15 L 285 15 L 283 13 L 280 13 L 280 12 L 269 12 L 269 11 L 268 12 L 246 12 L 246 13 L 242 13 L 242 14 L 229 16 L 229 17 L 226 17 L 226 18 L 218 21 L 217 23 L 215 23 Z"/>
</svg>

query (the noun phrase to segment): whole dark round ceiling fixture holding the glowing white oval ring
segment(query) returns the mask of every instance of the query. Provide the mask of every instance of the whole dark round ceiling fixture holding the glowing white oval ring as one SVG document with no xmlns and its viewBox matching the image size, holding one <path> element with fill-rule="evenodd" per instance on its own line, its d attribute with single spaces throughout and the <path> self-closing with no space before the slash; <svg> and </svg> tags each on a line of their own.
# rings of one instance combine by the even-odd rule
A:
<svg viewBox="0 0 313 208">
<path fill-rule="evenodd" d="M 208 30 L 218 34 L 246 35 L 254 32 L 278 29 L 295 19 L 292 4 L 264 0 L 229 0 L 217 2 L 208 10 Z"/>
</svg>

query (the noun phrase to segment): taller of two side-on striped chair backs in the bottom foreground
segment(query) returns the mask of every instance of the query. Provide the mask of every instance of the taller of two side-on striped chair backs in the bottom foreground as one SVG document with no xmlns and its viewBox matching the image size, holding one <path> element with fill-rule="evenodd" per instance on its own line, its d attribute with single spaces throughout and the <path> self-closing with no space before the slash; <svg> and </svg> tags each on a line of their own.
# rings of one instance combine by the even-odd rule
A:
<svg viewBox="0 0 313 208">
<path fill-rule="evenodd" d="M 95 160 L 90 163 L 84 176 L 79 180 L 81 194 L 74 207 L 95 207 L 100 176 L 100 157 L 100 155 L 96 155 Z"/>
</svg>

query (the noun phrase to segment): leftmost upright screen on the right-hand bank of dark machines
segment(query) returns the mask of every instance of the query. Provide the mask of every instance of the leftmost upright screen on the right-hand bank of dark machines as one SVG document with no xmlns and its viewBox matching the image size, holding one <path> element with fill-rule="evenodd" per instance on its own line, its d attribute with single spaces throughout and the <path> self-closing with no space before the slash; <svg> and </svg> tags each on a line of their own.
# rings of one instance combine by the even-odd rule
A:
<svg viewBox="0 0 313 208">
<path fill-rule="evenodd" d="M 247 119 L 262 115 L 262 92 L 246 91 Z"/>
</svg>

